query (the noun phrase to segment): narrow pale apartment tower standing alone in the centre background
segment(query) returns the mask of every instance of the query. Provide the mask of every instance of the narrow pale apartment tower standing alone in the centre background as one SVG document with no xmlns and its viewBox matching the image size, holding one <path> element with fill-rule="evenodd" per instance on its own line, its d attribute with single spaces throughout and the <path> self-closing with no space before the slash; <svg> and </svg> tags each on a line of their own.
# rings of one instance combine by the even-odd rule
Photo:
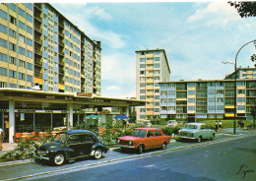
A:
<svg viewBox="0 0 256 181">
<path fill-rule="evenodd" d="M 136 97 L 147 100 L 137 107 L 137 120 L 160 118 L 160 85 L 170 77 L 170 68 L 164 49 L 136 51 Z"/>
</svg>

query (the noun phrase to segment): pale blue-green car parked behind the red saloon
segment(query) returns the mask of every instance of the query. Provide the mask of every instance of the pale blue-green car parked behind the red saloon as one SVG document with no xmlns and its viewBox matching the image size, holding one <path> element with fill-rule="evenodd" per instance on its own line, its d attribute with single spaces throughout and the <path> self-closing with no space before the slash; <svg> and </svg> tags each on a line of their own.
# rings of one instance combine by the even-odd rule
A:
<svg viewBox="0 0 256 181">
<path fill-rule="evenodd" d="M 215 139 L 215 130 L 209 129 L 204 123 L 188 123 L 179 130 L 180 139 L 193 139 L 201 142 L 203 139 Z"/>
</svg>

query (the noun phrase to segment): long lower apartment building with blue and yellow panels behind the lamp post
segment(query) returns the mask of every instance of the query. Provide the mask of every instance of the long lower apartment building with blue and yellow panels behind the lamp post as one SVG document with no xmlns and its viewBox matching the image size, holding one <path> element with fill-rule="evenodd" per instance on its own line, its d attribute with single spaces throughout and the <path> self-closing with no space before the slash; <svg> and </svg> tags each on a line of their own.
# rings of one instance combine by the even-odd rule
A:
<svg viewBox="0 0 256 181">
<path fill-rule="evenodd" d="M 238 69 L 237 72 L 240 76 L 237 79 L 236 114 L 243 119 L 256 103 L 256 69 Z M 196 121 L 234 117 L 235 82 L 229 76 L 226 78 L 160 83 L 161 118 Z"/>
</svg>

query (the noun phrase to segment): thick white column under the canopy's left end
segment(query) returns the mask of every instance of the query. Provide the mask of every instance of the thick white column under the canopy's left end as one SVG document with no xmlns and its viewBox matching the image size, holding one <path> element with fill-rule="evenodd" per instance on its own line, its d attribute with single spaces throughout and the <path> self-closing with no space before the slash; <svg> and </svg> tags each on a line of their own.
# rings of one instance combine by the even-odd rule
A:
<svg viewBox="0 0 256 181">
<path fill-rule="evenodd" d="M 14 143 L 15 134 L 15 101 L 9 100 L 9 143 Z"/>
</svg>

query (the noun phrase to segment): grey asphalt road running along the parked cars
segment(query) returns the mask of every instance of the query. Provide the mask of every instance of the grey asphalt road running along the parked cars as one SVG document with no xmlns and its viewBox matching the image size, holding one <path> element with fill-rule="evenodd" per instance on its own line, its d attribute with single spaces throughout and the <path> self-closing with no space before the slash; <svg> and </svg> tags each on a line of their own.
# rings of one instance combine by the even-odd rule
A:
<svg viewBox="0 0 256 181">
<path fill-rule="evenodd" d="M 243 136 L 242 136 L 243 137 Z M 0 166 L 0 179 L 19 180 L 256 180 L 256 136 L 218 136 L 216 141 L 172 143 L 167 151 L 108 152 L 63 166 Z M 224 139 L 224 140 L 223 140 Z"/>
</svg>

